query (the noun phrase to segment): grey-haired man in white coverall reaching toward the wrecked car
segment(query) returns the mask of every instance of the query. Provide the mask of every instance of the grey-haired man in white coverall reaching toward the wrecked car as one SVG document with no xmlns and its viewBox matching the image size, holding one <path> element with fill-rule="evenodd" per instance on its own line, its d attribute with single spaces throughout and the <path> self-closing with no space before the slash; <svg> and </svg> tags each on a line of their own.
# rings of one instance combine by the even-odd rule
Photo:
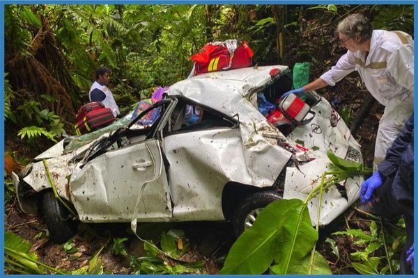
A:
<svg viewBox="0 0 418 278">
<path fill-rule="evenodd" d="M 320 78 L 284 95 L 333 86 L 356 70 L 371 95 L 385 106 L 376 136 L 373 160 L 376 171 L 413 111 L 414 41 L 401 31 L 373 30 L 369 19 L 360 14 L 349 15 L 339 22 L 337 33 L 347 53 Z"/>
</svg>

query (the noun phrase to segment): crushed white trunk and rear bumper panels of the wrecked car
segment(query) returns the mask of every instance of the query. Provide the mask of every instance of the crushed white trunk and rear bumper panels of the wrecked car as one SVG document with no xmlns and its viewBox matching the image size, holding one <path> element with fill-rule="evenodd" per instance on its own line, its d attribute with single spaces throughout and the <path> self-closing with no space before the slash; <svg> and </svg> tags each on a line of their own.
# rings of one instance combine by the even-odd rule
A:
<svg viewBox="0 0 418 278">
<path fill-rule="evenodd" d="M 321 99 L 320 103 L 312 108 L 312 111 L 315 111 L 320 117 L 314 117 L 314 120 L 305 126 L 298 126 L 288 136 L 288 140 L 293 142 L 293 145 L 299 144 L 309 149 L 306 155 L 309 158 L 314 158 L 314 161 L 300 165 L 299 170 L 296 167 L 288 167 L 284 190 L 285 199 L 305 200 L 311 190 L 320 184 L 321 175 L 331 166 L 326 155 L 328 149 L 342 158 L 346 158 L 348 149 L 351 149 L 357 155 L 352 155 L 350 160 L 363 162 L 359 144 L 351 136 L 350 129 L 341 120 L 341 117 L 332 111 L 328 101 Z M 336 122 L 332 123 L 334 120 Z M 362 177 L 354 177 L 341 182 L 347 197 L 343 197 L 336 186 L 332 186 L 323 193 L 319 220 L 321 225 L 334 220 L 358 199 L 359 186 L 362 181 Z M 308 204 L 313 224 L 318 222 L 318 202 L 318 197 L 316 197 Z"/>
</svg>

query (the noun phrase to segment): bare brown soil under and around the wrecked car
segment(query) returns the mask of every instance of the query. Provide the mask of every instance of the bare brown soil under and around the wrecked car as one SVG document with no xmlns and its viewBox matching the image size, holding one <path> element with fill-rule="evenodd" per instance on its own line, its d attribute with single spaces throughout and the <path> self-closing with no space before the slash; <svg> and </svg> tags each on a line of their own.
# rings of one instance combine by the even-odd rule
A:
<svg viewBox="0 0 418 278">
<path fill-rule="evenodd" d="M 346 222 L 350 222 L 352 229 L 369 229 L 369 222 L 362 215 L 349 209 L 346 215 L 341 215 L 335 222 L 323 230 L 320 230 L 320 238 L 317 250 L 325 256 L 334 274 L 357 274 L 353 268 L 345 268 L 350 265 L 350 253 L 355 252 L 353 238 L 344 236 L 330 236 L 334 231 L 346 229 Z M 81 224 L 84 225 L 84 224 Z M 110 238 L 128 238 L 125 248 L 128 254 L 136 257 L 146 256 L 144 243 L 132 236 L 124 224 L 89 225 L 79 227 L 78 233 L 71 240 L 72 246 L 77 252 L 65 251 L 62 244 L 52 243 L 47 236 L 47 227 L 40 217 L 30 217 L 20 211 L 17 203 L 6 204 L 5 229 L 26 239 L 33 245 L 31 251 L 38 254 L 40 261 L 61 270 L 77 270 L 88 265 L 95 252 L 101 247 L 99 259 L 103 265 L 105 274 L 131 274 L 133 271 L 130 262 L 123 256 L 116 256 L 111 250 Z M 217 274 L 221 270 L 224 259 L 233 245 L 234 238 L 228 222 L 187 222 L 165 225 L 164 229 L 181 229 L 185 231 L 185 238 L 189 241 L 189 251 L 181 257 L 182 261 L 203 261 L 204 266 L 196 274 Z M 141 229 L 141 225 L 139 225 Z M 94 233 L 94 234 L 92 234 Z M 340 257 L 332 253 L 325 239 L 331 237 L 336 241 Z M 158 235 L 151 236 L 151 240 L 157 240 Z M 156 241 L 154 241 L 156 242 Z M 13 274 L 13 273 L 10 273 Z"/>
</svg>

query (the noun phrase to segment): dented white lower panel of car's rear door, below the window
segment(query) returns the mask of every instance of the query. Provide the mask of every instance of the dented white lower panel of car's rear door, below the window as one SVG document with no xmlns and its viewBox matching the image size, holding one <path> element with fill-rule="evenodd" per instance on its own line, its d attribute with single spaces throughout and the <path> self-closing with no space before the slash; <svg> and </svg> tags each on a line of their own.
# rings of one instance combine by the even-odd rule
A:
<svg viewBox="0 0 418 278">
<path fill-rule="evenodd" d="M 167 136 L 173 220 L 224 220 L 222 190 L 228 181 L 251 184 L 239 129 L 209 129 Z"/>
</svg>

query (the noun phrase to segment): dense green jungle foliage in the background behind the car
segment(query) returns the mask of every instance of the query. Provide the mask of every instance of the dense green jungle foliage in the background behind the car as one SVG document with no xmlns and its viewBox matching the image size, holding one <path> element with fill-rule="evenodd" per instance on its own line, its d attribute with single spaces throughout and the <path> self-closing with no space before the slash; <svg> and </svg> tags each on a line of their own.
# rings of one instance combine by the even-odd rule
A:
<svg viewBox="0 0 418 278">
<path fill-rule="evenodd" d="M 6 120 L 20 129 L 34 126 L 29 131 L 40 127 L 35 134 L 47 138 L 61 136 L 53 115 L 26 122 L 25 113 L 17 113 L 47 110 L 45 115 L 58 115 L 72 133 L 74 113 L 87 101 L 99 65 L 113 71 L 112 91 L 127 112 L 155 86 L 184 79 L 192 66 L 189 56 L 214 40 L 247 40 L 254 64 L 309 60 L 321 72 L 328 65 L 321 57 L 340 50 L 333 43 L 335 24 L 354 12 L 376 19 L 379 28 L 413 33 L 412 6 L 7 5 Z M 22 107 L 26 101 L 35 102 Z M 22 138 L 30 138 L 29 131 Z"/>
</svg>

